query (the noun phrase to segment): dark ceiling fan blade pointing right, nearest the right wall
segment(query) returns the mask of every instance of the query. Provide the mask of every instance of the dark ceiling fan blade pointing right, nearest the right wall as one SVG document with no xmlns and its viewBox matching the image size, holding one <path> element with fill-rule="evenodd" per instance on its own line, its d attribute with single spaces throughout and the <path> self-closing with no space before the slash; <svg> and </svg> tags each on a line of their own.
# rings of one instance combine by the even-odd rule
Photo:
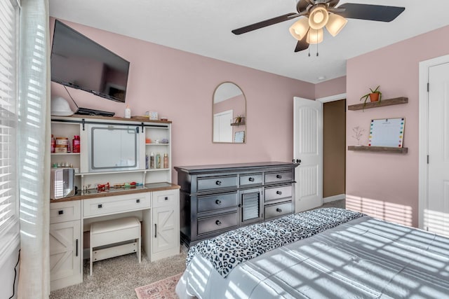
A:
<svg viewBox="0 0 449 299">
<path fill-rule="evenodd" d="M 382 6 L 372 4 L 346 3 L 338 6 L 344 8 L 343 13 L 339 13 L 343 18 L 390 22 L 400 15 L 406 8 L 397 6 Z"/>
</svg>

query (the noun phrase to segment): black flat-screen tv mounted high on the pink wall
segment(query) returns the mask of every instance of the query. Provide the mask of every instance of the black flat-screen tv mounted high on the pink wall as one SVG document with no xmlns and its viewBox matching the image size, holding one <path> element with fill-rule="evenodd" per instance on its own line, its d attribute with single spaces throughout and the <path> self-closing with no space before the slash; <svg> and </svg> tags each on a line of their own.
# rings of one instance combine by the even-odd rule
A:
<svg viewBox="0 0 449 299">
<path fill-rule="evenodd" d="M 125 102 L 129 62 L 56 20 L 51 81 Z"/>
</svg>

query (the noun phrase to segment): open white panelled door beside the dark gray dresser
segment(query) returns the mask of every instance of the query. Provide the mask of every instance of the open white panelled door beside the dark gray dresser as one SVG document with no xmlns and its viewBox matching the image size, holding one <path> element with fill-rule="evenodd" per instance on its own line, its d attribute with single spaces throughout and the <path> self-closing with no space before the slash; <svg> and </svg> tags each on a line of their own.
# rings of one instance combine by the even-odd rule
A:
<svg viewBox="0 0 449 299">
<path fill-rule="evenodd" d="M 323 204 L 323 103 L 293 99 L 293 155 L 301 160 L 295 168 L 295 211 Z"/>
</svg>

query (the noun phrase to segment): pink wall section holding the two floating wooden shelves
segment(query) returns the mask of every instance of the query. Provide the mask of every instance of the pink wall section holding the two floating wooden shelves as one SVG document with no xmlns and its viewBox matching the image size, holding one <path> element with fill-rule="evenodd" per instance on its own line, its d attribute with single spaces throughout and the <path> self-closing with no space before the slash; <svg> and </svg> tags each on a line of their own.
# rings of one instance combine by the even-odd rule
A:
<svg viewBox="0 0 449 299">
<path fill-rule="evenodd" d="M 371 119 L 406 118 L 407 154 L 347 151 L 347 205 L 367 214 L 418 225 L 418 81 L 419 62 L 449 54 L 449 27 L 416 36 L 348 60 L 347 104 L 358 104 L 380 85 L 382 98 L 408 97 L 408 104 L 347 111 L 347 145 L 356 144 L 352 128 L 368 132 Z M 361 144 L 366 145 L 365 132 Z"/>
</svg>

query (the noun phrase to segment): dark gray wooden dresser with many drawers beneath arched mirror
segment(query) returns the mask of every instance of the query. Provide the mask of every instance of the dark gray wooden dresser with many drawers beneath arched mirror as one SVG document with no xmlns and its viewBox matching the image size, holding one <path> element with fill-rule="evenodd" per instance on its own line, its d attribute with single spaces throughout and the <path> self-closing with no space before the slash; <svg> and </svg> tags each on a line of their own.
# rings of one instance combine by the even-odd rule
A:
<svg viewBox="0 0 449 299">
<path fill-rule="evenodd" d="M 288 162 L 175 167 L 181 240 L 187 246 L 295 211 L 295 167 Z"/>
</svg>

